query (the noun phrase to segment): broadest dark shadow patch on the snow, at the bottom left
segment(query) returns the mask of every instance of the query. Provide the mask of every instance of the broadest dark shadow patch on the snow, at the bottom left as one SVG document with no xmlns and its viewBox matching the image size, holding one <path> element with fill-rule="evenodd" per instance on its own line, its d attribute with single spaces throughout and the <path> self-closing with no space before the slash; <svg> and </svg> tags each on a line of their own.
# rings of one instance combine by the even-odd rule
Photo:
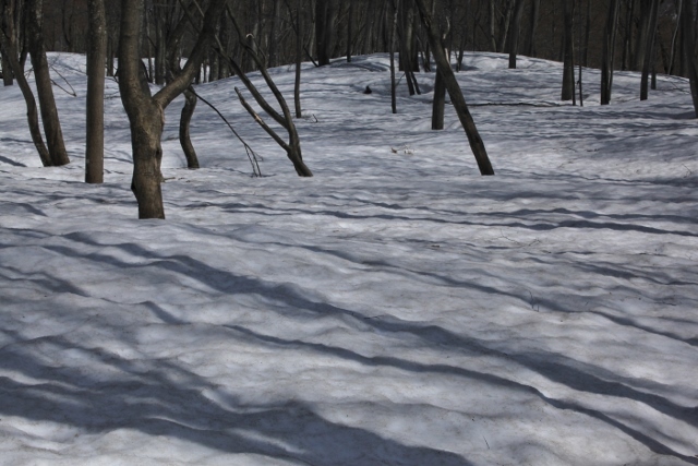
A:
<svg viewBox="0 0 698 466">
<path fill-rule="evenodd" d="M 34 342 L 36 343 L 36 342 Z M 131 361 L 63 336 L 43 338 L 57 351 L 80 349 L 110 368 L 110 377 L 80 367 L 50 367 L 22 345 L 0 349 L 0 368 L 40 383 L 0 377 L 0 413 L 80 428 L 92 434 L 132 429 L 226 453 L 258 454 L 308 465 L 469 466 L 460 455 L 404 445 L 365 429 L 332 422 L 298 401 L 249 405 L 169 361 Z M 145 367 L 144 367 L 145 366 Z M 116 373 L 115 373 L 116 372 Z M 136 452 L 137 454 L 137 452 Z"/>
</svg>

